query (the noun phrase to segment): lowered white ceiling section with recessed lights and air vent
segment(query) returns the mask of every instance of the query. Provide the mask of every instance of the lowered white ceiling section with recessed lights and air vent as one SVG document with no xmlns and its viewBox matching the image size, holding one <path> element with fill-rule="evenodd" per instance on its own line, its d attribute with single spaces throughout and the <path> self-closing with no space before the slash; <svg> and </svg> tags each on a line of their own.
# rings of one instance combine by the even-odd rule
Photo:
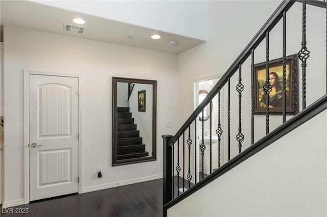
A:
<svg viewBox="0 0 327 217">
<path fill-rule="evenodd" d="M 204 42 L 199 39 L 160 32 L 141 26 L 54 8 L 35 2 L 0 1 L 0 7 L 1 25 L 11 25 L 30 30 L 177 54 Z M 74 24 L 72 18 L 81 16 L 86 23 L 82 25 Z M 64 23 L 84 26 L 86 31 L 84 34 L 65 32 L 63 28 Z M 161 39 L 151 39 L 150 36 L 153 34 L 161 35 Z M 134 39 L 129 39 L 128 36 L 132 36 Z M 168 43 L 170 40 L 176 40 L 179 45 L 170 45 Z"/>
</svg>

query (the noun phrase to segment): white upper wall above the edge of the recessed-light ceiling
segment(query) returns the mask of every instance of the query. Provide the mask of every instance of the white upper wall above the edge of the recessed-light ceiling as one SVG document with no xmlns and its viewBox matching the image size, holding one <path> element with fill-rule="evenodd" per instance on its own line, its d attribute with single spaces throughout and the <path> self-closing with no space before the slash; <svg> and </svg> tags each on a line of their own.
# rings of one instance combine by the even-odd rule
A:
<svg viewBox="0 0 327 217">
<path fill-rule="evenodd" d="M 158 31 L 206 40 L 206 1 L 33 1 Z"/>
</svg>

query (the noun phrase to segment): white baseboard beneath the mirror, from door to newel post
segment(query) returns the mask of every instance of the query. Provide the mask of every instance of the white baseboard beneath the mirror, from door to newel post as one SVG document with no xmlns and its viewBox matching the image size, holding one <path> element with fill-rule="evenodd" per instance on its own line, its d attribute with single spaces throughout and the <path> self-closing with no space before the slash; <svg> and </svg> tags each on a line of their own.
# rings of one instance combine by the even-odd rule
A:
<svg viewBox="0 0 327 217">
<path fill-rule="evenodd" d="M 142 178 L 129 179 L 129 180 L 111 182 L 111 183 L 106 183 L 106 184 L 99 184 L 99 185 L 84 187 L 82 189 L 82 193 L 94 192 L 94 191 L 99 191 L 99 190 L 103 190 L 103 189 L 107 189 L 107 188 L 111 188 L 111 187 L 135 184 L 138 182 L 150 181 L 150 180 L 161 179 L 161 178 L 162 178 L 162 174 L 158 174 L 158 175 L 147 176 L 147 177 L 142 177 Z"/>
</svg>

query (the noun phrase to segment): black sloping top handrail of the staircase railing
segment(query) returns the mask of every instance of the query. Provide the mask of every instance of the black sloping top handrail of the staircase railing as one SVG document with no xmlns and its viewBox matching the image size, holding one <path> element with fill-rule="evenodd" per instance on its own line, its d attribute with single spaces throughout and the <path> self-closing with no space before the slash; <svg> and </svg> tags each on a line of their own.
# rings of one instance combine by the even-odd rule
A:
<svg viewBox="0 0 327 217">
<path fill-rule="evenodd" d="M 182 125 L 182 127 L 177 131 L 174 137 L 169 142 L 169 146 L 173 146 L 180 135 L 189 127 L 189 125 L 197 118 L 197 116 L 201 113 L 202 109 L 216 96 L 219 89 L 221 89 L 238 69 L 239 64 L 245 62 L 245 60 L 251 55 L 251 50 L 256 48 L 262 40 L 266 37 L 266 32 L 271 31 L 274 26 L 278 23 L 279 20 L 283 17 L 283 12 L 288 11 L 292 5 L 296 1 L 285 0 L 278 6 L 278 8 L 274 11 L 274 13 L 269 17 L 267 22 L 263 25 L 263 27 L 259 30 L 259 32 L 254 36 L 254 38 L 250 41 L 250 43 L 245 47 L 245 49 L 241 52 L 239 57 L 231 64 L 226 73 L 219 79 L 218 83 L 214 86 L 214 88 L 208 93 L 208 95 L 204 98 L 204 100 L 200 103 L 200 105 L 194 110 L 188 120 Z"/>
</svg>

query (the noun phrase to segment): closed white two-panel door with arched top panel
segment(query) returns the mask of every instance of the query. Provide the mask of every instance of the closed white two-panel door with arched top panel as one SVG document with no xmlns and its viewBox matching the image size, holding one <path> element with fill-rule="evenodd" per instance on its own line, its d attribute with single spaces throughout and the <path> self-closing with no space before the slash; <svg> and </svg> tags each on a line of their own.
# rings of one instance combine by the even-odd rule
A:
<svg viewBox="0 0 327 217">
<path fill-rule="evenodd" d="M 78 192 L 78 78 L 29 75 L 30 201 Z"/>
</svg>

